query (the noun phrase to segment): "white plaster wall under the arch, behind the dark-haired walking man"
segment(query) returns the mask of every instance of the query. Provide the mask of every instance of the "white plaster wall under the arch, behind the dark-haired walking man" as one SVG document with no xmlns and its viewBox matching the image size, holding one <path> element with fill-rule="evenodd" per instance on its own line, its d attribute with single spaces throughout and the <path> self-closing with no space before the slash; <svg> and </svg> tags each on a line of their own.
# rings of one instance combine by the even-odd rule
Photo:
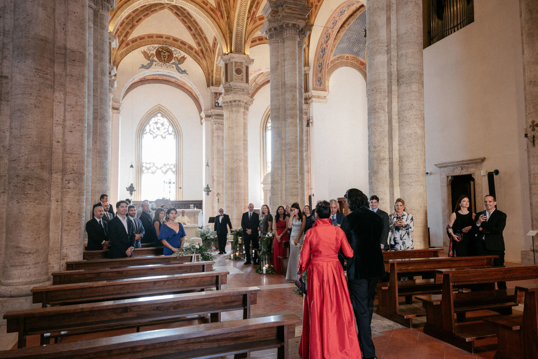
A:
<svg viewBox="0 0 538 359">
<path fill-rule="evenodd" d="M 313 203 L 343 197 L 349 188 L 368 192 L 366 81 L 355 69 L 337 69 L 327 103 L 312 105 Z"/>
</svg>

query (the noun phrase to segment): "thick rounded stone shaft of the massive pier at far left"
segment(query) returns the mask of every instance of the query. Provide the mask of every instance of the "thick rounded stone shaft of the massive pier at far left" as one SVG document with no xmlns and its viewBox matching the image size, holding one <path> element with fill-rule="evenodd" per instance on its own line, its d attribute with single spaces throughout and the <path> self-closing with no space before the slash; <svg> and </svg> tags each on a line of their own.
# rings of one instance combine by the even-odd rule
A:
<svg viewBox="0 0 538 359">
<path fill-rule="evenodd" d="M 54 100 L 54 2 L 13 10 L 7 203 L 24 224 L 6 223 L 0 296 L 23 297 L 48 280 Z M 86 110 L 86 109 L 84 109 Z"/>
</svg>

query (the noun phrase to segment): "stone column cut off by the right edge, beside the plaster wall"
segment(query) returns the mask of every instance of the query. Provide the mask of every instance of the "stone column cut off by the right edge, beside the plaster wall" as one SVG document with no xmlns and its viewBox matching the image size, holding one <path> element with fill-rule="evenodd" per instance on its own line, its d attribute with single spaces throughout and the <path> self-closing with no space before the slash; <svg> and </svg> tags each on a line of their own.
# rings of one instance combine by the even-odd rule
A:
<svg viewBox="0 0 538 359">
<path fill-rule="evenodd" d="M 538 3 L 534 0 L 520 0 L 521 35 L 523 46 L 523 88 L 525 90 L 525 128 L 528 136 L 538 140 Z M 530 220 L 533 230 L 538 230 L 538 145 L 527 144 L 529 167 Z M 538 236 L 535 236 L 535 250 L 538 251 Z M 523 264 L 534 263 L 538 253 L 521 252 Z"/>
</svg>

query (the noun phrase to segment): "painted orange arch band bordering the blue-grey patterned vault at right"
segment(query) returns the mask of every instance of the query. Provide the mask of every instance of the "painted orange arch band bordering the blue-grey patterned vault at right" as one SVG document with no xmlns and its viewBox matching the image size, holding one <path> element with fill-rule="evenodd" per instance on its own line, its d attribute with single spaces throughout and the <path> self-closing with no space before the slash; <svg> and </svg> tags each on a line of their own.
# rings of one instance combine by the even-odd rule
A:
<svg viewBox="0 0 538 359">
<path fill-rule="evenodd" d="M 322 32 L 318 40 L 315 56 L 314 56 L 314 73 L 312 76 L 312 89 L 318 91 L 327 91 L 330 51 L 335 40 L 335 35 L 338 29 L 342 26 L 345 20 L 352 13 L 364 6 L 358 0 L 348 0 L 332 12 L 331 16 L 325 24 L 325 30 Z"/>
</svg>

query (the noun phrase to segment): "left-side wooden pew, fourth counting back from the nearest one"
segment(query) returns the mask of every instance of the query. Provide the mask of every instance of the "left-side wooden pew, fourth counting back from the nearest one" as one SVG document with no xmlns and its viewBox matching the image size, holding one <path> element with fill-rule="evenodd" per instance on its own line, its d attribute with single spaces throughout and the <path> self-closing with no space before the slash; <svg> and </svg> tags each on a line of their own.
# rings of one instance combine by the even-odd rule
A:
<svg viewBox="0 0 538 359">
<path fill-rule="evenodd" d="M 213 271 L 213 262 L 179 264 L 151 264 L 125 268 L 76 270 L 52 273 L 52 284 L 83 283 L 86 281 L 166 276 L 168 274 L 200 273 Z"/>
</svg>

